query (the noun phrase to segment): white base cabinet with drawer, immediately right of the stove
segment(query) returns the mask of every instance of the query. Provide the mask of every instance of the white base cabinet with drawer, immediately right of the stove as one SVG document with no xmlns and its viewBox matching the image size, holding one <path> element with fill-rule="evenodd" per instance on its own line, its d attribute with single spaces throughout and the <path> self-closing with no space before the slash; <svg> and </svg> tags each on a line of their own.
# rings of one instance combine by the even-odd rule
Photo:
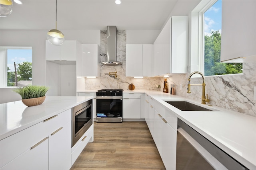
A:
<svg viewBox="0 0 256 170">
<path fill-rule="evenodd" d="M 140 119 L 140 93 L 123 93 L 123 118 Z"/>
</svg>

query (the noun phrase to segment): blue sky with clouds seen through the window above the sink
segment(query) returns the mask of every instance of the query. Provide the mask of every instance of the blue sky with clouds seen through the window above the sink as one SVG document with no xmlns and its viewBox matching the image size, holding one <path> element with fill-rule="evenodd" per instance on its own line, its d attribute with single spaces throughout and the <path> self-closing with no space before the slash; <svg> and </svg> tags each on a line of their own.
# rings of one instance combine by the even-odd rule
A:
<svg viewBox="0 0 256 170">
<path fill-rule="evenodd" d="M 218 0 L 211 8 L 204 13 L 204 33 L 210 34 L 212 30 L 221 33 L 221 4 L 222 1 Z"/>
</svg>

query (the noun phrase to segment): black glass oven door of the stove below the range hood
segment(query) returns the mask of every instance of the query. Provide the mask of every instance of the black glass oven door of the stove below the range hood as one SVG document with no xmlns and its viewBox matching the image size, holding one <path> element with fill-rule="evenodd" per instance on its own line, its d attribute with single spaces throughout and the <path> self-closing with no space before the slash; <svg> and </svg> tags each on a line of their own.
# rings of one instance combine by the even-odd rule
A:
<svg viewBox="0 0 256 170">
<path fill-rule="evenodd" d="M 97 96 L 97 117 L 122 117 L 122 96 Z"/>
</svg>

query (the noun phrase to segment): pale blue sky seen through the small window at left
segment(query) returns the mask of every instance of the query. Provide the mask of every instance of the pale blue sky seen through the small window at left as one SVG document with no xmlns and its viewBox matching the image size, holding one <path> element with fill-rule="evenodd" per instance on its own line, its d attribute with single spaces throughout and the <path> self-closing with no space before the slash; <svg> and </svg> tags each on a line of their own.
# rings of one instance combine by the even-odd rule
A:
<svg viewBox="0 0 256 170">
<path fill-rule="evenodd" d="M 8 49 L 7 58 L 7 66 L 10 68 L 9 72 L 14 72 L 14 62 L 16 66 L 24 61 L 32 63 L 32 49 Z"/>
</svg>

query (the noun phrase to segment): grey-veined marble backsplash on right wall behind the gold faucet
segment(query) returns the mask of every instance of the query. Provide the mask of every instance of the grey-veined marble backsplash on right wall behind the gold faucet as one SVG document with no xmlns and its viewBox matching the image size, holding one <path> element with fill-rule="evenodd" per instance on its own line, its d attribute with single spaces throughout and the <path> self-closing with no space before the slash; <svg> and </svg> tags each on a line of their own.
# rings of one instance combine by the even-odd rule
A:
<svg viewBox="0 0 256 170">
<path fill-rule="evenodd" d="M 243 74 L 206 76 L 206 94 L 209 104 L 225 109 L 238 111 L 256 117 L 256 101 L 254 87 L 256 86 L 256 63 L 244 63 Z M 191 78 L 190 84 L 202 84 L 202 77 Z M 168 84 L 175 84 L 176 95 L 184 96 L 198 102 L 201 101 L 202 86 L 191 86 L 187 92 L 189 74 L 174 74 L 167 79 Z M 162 78 L 162 83 L 164 78 Z M 180 90 L 180 86 L 181 89 Z"/>
</svg>

